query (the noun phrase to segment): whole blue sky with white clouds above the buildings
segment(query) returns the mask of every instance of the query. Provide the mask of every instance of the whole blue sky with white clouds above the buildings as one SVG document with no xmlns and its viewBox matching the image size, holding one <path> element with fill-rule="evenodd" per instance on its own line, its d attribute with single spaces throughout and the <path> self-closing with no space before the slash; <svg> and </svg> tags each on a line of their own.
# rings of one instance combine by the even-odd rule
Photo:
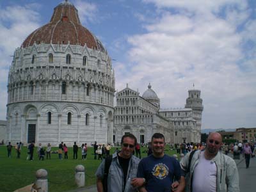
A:
<svg viewBox="0 0 256 192">
<path fill-rule="evenodd" d="M 195 88 L 202 129 L 256 127 L 256 1 L 69 1 L 113 59 L 116 91 L 150 83 L 161 108 L 184 108 Z M 0 120 L 13 52 L 61 2 L 0 1 Z"/>
</svg>

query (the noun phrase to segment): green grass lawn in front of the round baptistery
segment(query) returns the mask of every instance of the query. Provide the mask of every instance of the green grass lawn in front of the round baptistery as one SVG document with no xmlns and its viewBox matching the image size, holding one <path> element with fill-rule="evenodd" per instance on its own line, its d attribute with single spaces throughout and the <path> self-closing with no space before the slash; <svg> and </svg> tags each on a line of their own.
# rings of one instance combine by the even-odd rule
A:
<svg viewBox="0 0 256 192">
<path fill-rule="evenodd" d="M 120 147 L 119 147 L 120 148 Z M 52 148 L 57 150 L 57 148 Z M 113 154 L 115 148 L 111 148 Z M 143 152 L 145 148 L 141 148 Z M 172 155 L 175 151 L 166 151 L 166 154 Z M 16 159 L 15 148 L 12 149 L 12 158 L 7 157 L 6 146 L 0 146 L 0 191 L 15 191 L 35 181 L 36 170 L 44 168 L 48 172 L 49 191 L 68 191 L 76 189 L 75 183 L 75 167 L 77 164 L 83 164 L 85 168 L 86 186 L 95 184 L 95 172 L 99 166 L 99 160 L 93 159 L 93 148 L 88 147 L 88 155 L 86 161 L 81 159 L 81 149 L 79 148 L 78 159 L 73 159 L 73 150 L 68 148 L 68 159 L 58 159 L 58 154 L 51 154 L 51 159 L 39 161 L 36 148 L 34 150 L 34 161 L 26 161 L 27 148 L 21 150 L 20 159 Z M 141 153 L 142 157 L 147 156 Z M 63 154 L 64 157 L 64 154 Z"/>
</svg>

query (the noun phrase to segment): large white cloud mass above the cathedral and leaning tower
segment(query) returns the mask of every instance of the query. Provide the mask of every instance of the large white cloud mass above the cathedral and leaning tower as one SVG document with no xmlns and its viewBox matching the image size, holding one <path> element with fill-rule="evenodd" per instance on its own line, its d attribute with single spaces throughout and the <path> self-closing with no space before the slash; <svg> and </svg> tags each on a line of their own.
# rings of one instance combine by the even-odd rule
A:
<svg viewBox="0 0 256 192">
<path fill-rule="evenodd" d="M 247 22 L 243 33 L 237 30 L 249 17 L 243 12 L 246 3 L 231 0 L 145 2 L 156 3 L 161 8 L 184 8 L 187 12 L 164 10 L 152 24 L 144 26 L 147 33 L 128 38 L 133 65 L 128 73 L 116 70 L 116 74 L 122 76 L 120 86 L 131 82 L 142 94 L 150 81 L 161 99 L 161 106 L 170 108 L 184 107 L 187 90 L 195 83 L 195 88 L 202 90 L 207 111 L 204 128 L 223 125 L 234 128 L 232 125 L 242 126 L 243 120 L 248 125 L 255 124 L 255 120 L 243 115 L 244 109 L 248 109 L 245 112 L 248 116 L 256 112 L 252 108 L 253 103 L 255 106 L 256 65 L 246 58 L 241 46 L 246 35 L 255 37 L 255 21 Z M 238 5 L 241 7 L 237 8 Z M 201 6 L 204 10 L 200 10 Z M 191 13 L 198 9 L 202 12 Z M 236 118 L 230 124 L 232 116 Z"/>
</svg>

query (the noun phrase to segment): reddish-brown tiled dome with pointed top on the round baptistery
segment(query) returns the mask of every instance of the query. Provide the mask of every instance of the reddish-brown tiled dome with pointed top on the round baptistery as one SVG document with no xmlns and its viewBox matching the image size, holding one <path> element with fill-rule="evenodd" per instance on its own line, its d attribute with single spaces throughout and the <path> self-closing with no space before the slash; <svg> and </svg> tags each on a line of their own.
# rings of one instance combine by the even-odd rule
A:
<svg viewBox="0 0 256 192">
<path fill-rule="evenodd" d="M 24 40 L 22 47 L 34 43 L 86 45 L 91 49 L 105 51 L 101 42 L 81 25 L 76 7 L 67 0 L 54 8 L 50 22 L 33 31 Z"/>
</svg>

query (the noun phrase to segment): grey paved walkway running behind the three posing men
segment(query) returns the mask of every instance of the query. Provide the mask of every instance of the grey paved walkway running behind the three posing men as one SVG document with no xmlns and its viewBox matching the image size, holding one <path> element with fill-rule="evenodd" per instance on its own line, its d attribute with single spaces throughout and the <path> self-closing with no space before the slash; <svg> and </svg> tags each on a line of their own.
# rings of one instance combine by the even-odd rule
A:
<svg viewBox="0 0 256 192">
<path fill-rule="evenodd" d="M 230 155 L 230 157 L 233 157 Z M 250 166 L 246 169 L 245 160 L 242 156 L 240 159 L 235 159 L 237 169 L 239 172 L 239 186 L 240 192 L 254 192 L 256 191 L 255 179 L 256 179 L 256 158 L 250 159 Z M 74 189 L 68 192 L 97 192 L 96 185 L 86 188 Z"/>
</svg>

